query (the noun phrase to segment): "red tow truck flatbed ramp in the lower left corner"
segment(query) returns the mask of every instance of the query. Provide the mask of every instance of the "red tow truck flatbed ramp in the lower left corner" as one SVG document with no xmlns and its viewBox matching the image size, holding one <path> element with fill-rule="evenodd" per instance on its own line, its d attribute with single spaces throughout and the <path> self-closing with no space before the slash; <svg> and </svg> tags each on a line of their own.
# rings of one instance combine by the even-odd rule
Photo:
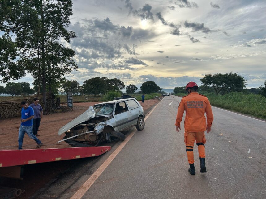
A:
<svg viewBox="0 0 266 199">
<path fill-rule="evenodd" d="M 22 179 L 20 172 L 23 165 L 95 157 L 110 150 L 110 146 L 2 150 L 0 151 L 0 177 Z M 20 189 L 7 189 L 8 191 L 3 193 L 3 187 L 0 187 L 0 198 L 14 198 L 21 194 Z"/>
</svg>

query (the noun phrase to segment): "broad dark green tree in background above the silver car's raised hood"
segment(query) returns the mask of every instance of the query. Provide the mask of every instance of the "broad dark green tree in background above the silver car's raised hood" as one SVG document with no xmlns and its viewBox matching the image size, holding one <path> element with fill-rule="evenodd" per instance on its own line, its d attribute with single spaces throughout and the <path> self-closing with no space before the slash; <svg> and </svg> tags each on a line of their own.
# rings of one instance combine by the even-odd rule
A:
<svg viewBox="0 0 266 199">
<path fill-rule="evenodd" d="M 106 78 L 105 77 L 93 77 L 83 82 L 84 94 L 105 94 L 106 93 Z"/>
</svg>

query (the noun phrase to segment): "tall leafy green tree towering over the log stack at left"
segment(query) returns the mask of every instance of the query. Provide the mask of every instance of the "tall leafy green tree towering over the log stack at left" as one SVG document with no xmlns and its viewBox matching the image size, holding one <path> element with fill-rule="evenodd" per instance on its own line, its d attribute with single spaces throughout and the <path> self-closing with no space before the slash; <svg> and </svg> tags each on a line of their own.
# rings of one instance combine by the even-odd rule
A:
<svg viewBox="0 0 266 199">
<path fill-rule="evenodd" d="M 51 95 L 53 85 L 72 69 L 77 69 L 73 60 L 75 52 L 60 44 L 62 39 L 69 43 L 75 37 L 74 32 L 67 30 L 71 15 L 71 0 L 1 1 L 0 32 L 3 31 L 5 37 L 0 40 L 0 46 L 11 44 L 7 50 L 1 50 L 0 61 L 5 62 L 5 65 L 1 64 L 4 66 L 0 72 L 1 81 L 18 79 L 28 71 L 37 80 L 39 88 L 42 85 L 43 93 L 48 84 Z M 14 36 L 13 40 L 8 39 L 10 34 Z M 19 52 L 19 67 L 14 62 L 15 50 Z M 2 52 L 8 59 L 2 58 Z M 46 110 L 45 98 L 43 95 Z"/>
</svg>

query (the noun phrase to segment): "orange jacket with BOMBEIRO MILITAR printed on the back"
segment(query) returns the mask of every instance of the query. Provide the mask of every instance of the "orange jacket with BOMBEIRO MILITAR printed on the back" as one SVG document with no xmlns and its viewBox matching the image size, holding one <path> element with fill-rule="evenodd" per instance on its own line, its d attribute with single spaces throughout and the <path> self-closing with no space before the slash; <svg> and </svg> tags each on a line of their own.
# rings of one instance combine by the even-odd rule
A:
<svg viewBox="0 0 266 199">
<path fill-rule="evenodd" d="M 186 110 L 185 131 L 202 132 L 206 130 L 206 112 L 207 125 L 212 126 L 213 114 L 212 107 L 208 98 L 197 92 L 192 92 L 182 98 L 178 106 L 175 126 L 180 126 L 182 117 Z"/>
</svg>

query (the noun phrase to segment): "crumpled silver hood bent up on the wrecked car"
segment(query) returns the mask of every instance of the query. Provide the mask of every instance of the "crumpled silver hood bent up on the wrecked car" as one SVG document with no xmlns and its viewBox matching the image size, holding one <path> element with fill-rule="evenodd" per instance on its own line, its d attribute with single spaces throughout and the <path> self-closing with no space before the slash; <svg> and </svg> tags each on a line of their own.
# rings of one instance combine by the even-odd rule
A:
<svg viewBox="0 0 266 199">
<path fill-rule="evenodd" d="M 61 129 L 58 131 L 58 135 L 63 134 L 67 130 L 73 128 L 74 126 L 77 126 L 78 124 L 88 121 L 91 118 L 95 117 L 95 111 L 92 106 L 88 108 L 83 114 L 79 115 L 75 119 L 73 119 L 71 122 L 68 122 L 65 126 L 63 126 Z"/>
</svg>

